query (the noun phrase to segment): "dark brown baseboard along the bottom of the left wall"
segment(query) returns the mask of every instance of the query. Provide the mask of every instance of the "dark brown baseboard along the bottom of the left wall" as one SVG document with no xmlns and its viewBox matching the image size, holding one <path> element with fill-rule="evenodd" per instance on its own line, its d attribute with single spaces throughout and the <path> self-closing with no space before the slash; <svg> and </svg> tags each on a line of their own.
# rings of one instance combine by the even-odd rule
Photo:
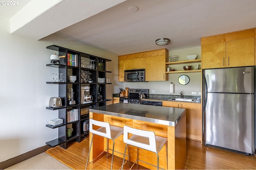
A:
<svg viewBox="0 0 256 170">
<path fill-rule="evenodd" d="M 32 158 L 33 156 L 36 156 L 42 152 L 45 152 L 47 149 L 50 149 L 50 148 L 51 148 L 50 146 L 45 145 L 43 147 L 31 150 L 29 152 L 26 152 L 24 154 L 14 157 L 14 158 L 10 158 L 4 162 L 0 162 L 0 169 L 5 169 L 12 165 L 18 164 L 28 158 Z"/>
</svg>

